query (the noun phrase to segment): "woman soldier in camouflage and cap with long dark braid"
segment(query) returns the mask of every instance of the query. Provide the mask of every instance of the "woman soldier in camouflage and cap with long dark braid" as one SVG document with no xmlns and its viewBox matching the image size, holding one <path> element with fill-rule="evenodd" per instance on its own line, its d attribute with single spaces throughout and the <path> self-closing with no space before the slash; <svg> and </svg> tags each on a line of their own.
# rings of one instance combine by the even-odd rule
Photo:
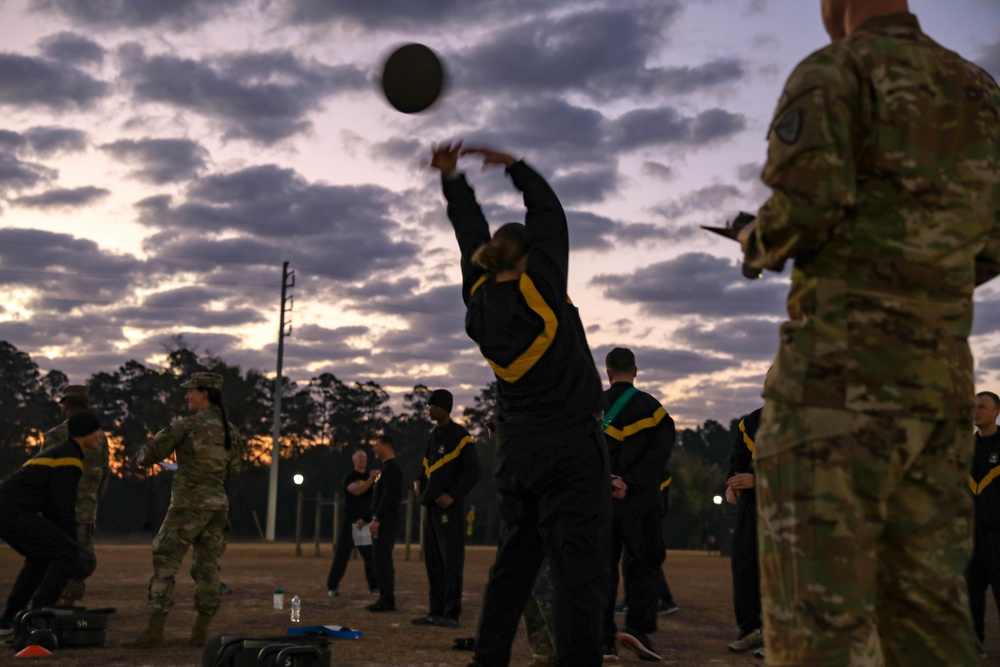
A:
<svg viewBox="0 0 1000 667">
<path fill-rule="evenodd" d="M 181 386 L 188 390 L 184 398 L 194 414 L 157 433 L 136 455 L 139 465 L 151 466 L 176 454 L 177 472 L 170 508 L 153 539 L 153 578 L 146 602 L 149 625 L 130 645 L 134 648 L 163 646 L 163 626 L 174 601 L 174 576 L 188 547 L 194 546 L 191 577 L 198 611 L 188 641 L 191 646 L 207 641 L 208 625 L 222 602 L 219 559 L 229 532 L 225 483 L 239 474 L 243 442 L 226 419 L 221 375 L 192 373 Z"/>
</svg>

